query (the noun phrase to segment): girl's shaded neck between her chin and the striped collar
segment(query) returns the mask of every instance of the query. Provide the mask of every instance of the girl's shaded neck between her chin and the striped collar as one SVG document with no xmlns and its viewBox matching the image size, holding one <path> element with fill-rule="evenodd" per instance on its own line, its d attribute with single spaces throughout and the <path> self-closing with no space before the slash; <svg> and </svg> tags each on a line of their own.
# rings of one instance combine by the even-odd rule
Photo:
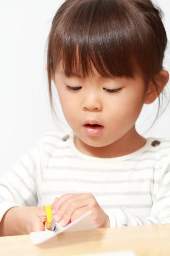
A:
<svg viewBox="0 0 170 256">
<path fill-rule="evenodd" d="M 133 153 L 142 148 L 145 143 L 146 139 L 137 133 L 135 126 L 122 138 L 104 147 L 89 146 L 79 137 L 75 137 L 75 145 L 80 152 L 88 156 L 102 158 L 121 157 Z"/>
</svg>

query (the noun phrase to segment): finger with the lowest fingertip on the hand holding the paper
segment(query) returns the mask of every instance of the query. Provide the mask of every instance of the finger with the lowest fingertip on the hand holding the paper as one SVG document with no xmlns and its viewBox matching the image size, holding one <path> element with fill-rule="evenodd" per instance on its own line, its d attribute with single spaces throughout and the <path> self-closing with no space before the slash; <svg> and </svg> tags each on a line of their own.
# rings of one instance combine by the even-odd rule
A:
<svg viewBox="0 0 170 256">
<path fill-rule="evenodd" d="M 86 207 L 90 203 L 91 203 L 91 201 L 89 201 L 89 198 L 84 198 L 84 199 L 74 198 L 74 200 L 69 202 L 69 204 L 67 202 L 63 203 L 62 206 L 57 211 L 57 215 L 59 215 L 59 218 L 61 215 L 63 215 L 59 224 L 62 227 L 65 227 L 71 220 L 71 216 L 75 212 L 75 210 L 82 208 L 82 207 Z M 63 214 L 63 212 L 64 212 L 64 214 Z"/>
</svg>

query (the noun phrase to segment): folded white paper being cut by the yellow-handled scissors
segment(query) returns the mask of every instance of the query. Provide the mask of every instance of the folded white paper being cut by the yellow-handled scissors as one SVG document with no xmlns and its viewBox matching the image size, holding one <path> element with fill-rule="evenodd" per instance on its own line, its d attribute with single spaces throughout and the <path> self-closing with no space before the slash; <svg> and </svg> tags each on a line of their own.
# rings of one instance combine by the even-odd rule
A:
<svg viewBox="0 0 170 256">
<path fill-rule="evenodd" d="M 77 220 L 71 222 L 66 227 L 61 228 L 58 232 L 54 231 L 40 231 L 40 232 L 31 232 L 30 237 L 33 244 L 42 244 L 43 242 L 47 241 L 48 239 L 57 236 L 62 232 L 69 232 L 69 231 L 79 231 L 79 230 L 93 230 L 94 224 L 91 218 L 91 212 L 87 212 L 82 217 L 78 218 Z"/>
</svg>

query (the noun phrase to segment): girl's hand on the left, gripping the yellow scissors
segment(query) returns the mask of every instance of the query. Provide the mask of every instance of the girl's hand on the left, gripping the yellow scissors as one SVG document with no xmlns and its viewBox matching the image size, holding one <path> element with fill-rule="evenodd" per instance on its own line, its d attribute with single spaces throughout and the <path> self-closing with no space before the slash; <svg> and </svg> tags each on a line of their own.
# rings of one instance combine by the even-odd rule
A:
<svg viewBox="0 0 170 256">
<path fill-rule="evenodd" d="M 44 231 L 46 213 L 44 207 L 13 207 L 0 221 L 0 236 L 27 235 Z"/>
</svg>

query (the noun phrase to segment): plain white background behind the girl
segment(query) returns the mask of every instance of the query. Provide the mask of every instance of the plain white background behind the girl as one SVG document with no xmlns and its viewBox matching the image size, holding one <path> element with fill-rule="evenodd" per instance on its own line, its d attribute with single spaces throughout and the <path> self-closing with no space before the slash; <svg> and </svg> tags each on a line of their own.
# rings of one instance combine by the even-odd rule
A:
<svg viewBox="0 0 170 256">
<path fill-rule="evenodd" d="M 0 173 L 37 145 L 45 132 L 58 130 L 63 116 L 57 102 L 59 125 L 50 112 L 45 70 L 51 21 L 62 0 L 0 0 Z M 157 0 L 164 12 L 170 38 L 170 1 Z M 170 50 L 164 67 L 170 72 Z M 168 83 L 168 87 L 170 87 Z M 148 132 L 156 104 L 144 107 L 138 131 L 144 137 L 170 137 L 170 107 Z"/>
</svg>

